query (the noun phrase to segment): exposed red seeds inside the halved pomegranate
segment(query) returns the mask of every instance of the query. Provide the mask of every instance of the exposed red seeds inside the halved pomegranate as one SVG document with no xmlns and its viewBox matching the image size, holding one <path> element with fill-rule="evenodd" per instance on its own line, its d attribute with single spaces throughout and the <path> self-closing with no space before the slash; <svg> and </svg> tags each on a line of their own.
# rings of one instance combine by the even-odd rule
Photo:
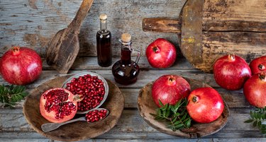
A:
<svg viewBox="0 0 266 142">
<path fill-rule="evenodd" d="M 51 90 L 43 95 L 45 102 L 45 110 L 47 112 L 55 112 L 56 119 L 63 119 L 65 116 L 72 114 L 76 110 L 76 106 L 68 100 L 68 93 L 65 90 Z"/>
</svg>

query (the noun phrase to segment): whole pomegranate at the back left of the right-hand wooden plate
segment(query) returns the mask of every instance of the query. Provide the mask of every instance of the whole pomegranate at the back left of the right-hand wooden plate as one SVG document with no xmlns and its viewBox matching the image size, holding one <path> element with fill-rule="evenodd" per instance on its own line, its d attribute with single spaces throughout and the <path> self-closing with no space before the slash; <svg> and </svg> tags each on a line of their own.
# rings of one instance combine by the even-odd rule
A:
<svg viewBox="0 0 266 142">
<path fill-rule="evenodd" d="M 165 105 L 174 105 L 190 93 L 189 83 L 177 75 L 165 75 L 157 78 L 153 83 L 152 95 L 155 104 L 161 107 L 159 100 Z"/>
</svg>

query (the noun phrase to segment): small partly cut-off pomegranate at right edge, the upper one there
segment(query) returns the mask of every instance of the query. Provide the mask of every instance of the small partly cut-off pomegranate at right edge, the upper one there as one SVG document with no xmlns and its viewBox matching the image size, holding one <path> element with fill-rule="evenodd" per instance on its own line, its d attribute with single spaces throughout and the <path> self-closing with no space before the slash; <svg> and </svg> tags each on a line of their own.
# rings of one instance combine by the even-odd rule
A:
<svg viewBox="0 0 266 142">
<path fill-rule="evenodd" d="M 266 56 L 258 57 L 250 62 L 252 74 L 266 73 Z"/>
</svg>

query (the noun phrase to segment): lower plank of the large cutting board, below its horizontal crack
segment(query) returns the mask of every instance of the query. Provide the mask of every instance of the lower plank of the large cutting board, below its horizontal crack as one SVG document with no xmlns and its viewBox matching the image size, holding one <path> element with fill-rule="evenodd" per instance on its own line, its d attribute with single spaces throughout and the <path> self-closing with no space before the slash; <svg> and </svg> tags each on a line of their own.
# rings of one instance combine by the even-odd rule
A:
<svg viewBox="0 0 266 142">
<path fill-rule="evenodd" d="M 266 33 L 204 32 L 202 45 L 203 61 L 196 68 L 211 71 L 210 65 L 226 54 L 236 54 L 248 62 L 266 55 Z"/>
</svg>

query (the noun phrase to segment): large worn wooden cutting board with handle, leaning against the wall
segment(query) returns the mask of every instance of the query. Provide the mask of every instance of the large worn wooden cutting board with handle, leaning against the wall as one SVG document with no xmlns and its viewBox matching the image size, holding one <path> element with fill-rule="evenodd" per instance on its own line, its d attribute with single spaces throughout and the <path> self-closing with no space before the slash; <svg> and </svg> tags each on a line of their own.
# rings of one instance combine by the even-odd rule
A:
<svg viewBox="0 0 266 142">
<path fill-rule="evenodd" d="M 188 0 L 179 20 L 143 19 L 144 31 L 175 32 L 184 57 L 196 69 L 236 54 L 250 62 L 266 55 L 265 0 Z"/>
</svg>

